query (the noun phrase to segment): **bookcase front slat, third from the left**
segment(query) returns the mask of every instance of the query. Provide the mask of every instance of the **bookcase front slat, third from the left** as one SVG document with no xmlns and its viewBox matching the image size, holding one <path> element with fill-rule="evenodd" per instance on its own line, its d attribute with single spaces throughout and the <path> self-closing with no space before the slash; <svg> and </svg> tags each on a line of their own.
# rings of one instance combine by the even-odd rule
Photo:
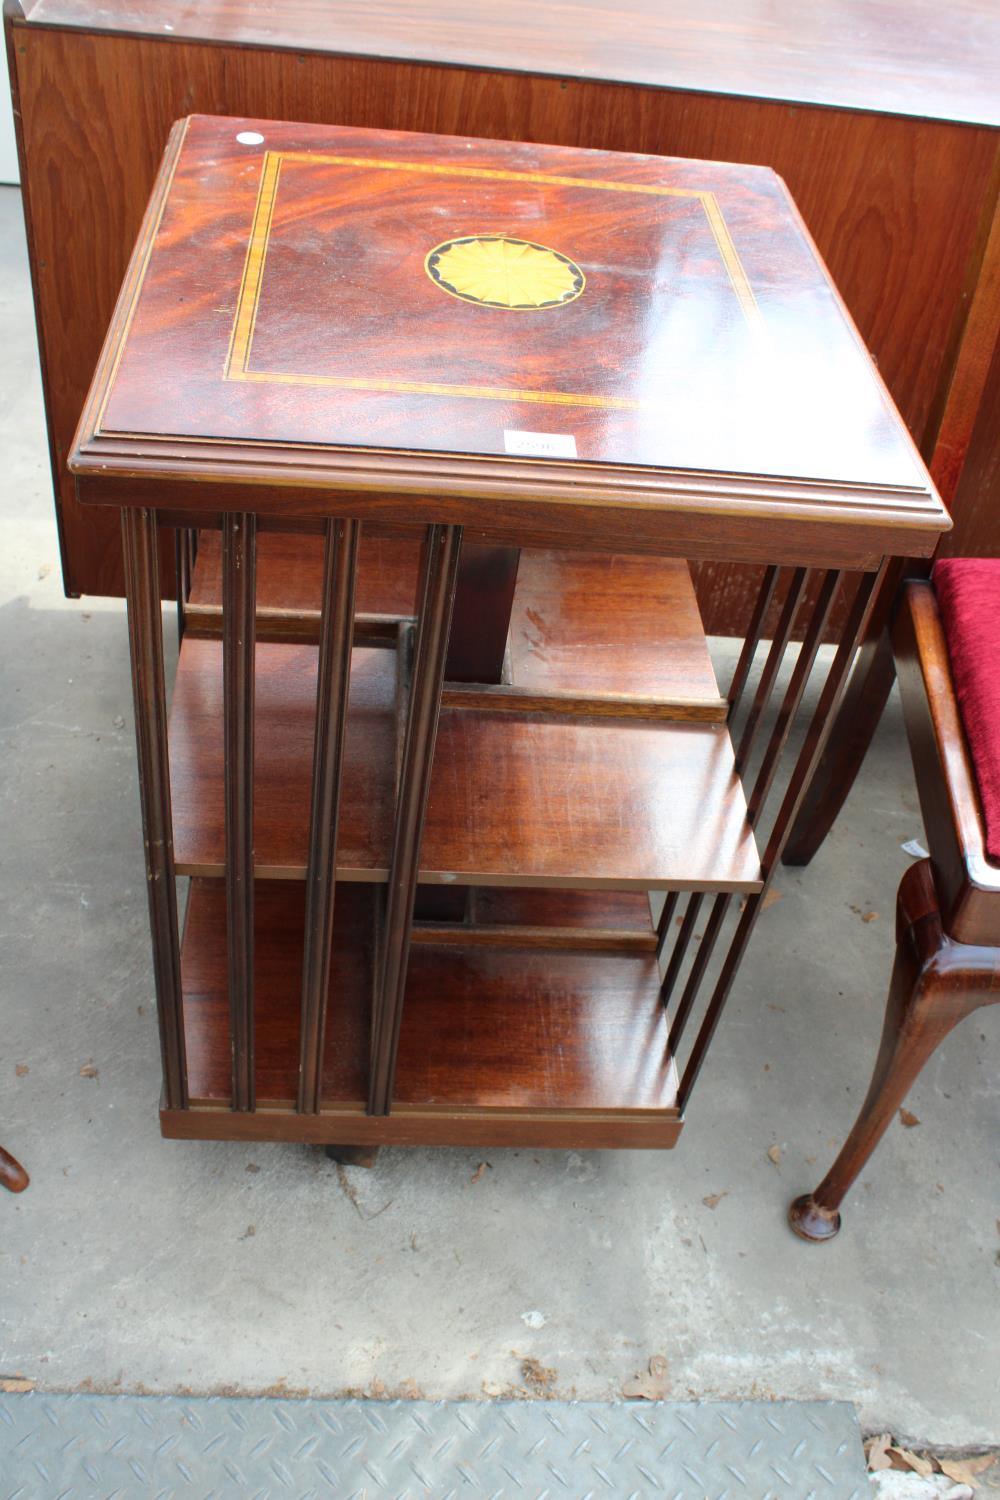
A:
<svg viewBox="0 0 1000 1500">
<path fill-rule="evenodd" d="M 348 724 L 360 537 L 360 520 L 327 522 L 309 864 L 306 868 L 306 942 L 298 1053 L 300 1114 L 315 1114 L 322 1102 L 322 1058 L 337 876 L 340 772 Z"/>
</svg>

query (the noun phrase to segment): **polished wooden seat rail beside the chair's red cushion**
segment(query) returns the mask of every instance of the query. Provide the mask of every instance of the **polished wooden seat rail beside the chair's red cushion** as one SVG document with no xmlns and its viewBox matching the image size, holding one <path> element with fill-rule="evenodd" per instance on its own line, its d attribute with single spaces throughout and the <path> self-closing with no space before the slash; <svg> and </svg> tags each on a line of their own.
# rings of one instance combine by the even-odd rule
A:
<svg viewBox="0 0 1000 1500">
<path fill-rule="evenodd" d="M 987 858 L 979 792 L 933 584 L 903 585 L 892 646 L 945 928 L 957 942 L 997 944 L 1000 868 Z"/>
</svg>

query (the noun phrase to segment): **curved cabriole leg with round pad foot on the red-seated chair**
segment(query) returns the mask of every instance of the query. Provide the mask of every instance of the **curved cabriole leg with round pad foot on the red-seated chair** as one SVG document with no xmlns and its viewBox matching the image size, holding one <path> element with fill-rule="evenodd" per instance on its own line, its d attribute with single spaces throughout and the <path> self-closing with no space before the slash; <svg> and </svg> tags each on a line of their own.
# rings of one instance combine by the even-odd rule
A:
<svg viewBox="0 0 1000 1500">
<path fill-rule="evenodd" d="M 931 861 L 910 866 L 897 902 L 897 957 L 868 1096 L 840 1156 L 789 1222 L 810 1240 L 840 1230 L 840 1204 L 940 1041 L 981 1005 L 1000 1000 L 1000 948 L 952 942 L 942 927 Z"/>
</svg>

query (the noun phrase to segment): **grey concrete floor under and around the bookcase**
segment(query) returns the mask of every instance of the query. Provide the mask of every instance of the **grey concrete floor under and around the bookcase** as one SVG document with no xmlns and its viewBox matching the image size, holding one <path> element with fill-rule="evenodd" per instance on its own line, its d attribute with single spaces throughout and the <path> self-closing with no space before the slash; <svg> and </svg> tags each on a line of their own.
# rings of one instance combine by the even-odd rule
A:
<svg viewBox="0 0 1000 1500">
<path fill-rule="evenodd" d="M 835 1244 L 784 1220 L 882 1024 L 921 837 L 895 702 L 820 858 L 781 874 L 675 1152 L 388 1150 L 366 1173 L 159 1138 L 124 614 L 61 596 L 12 189 L 0 309 L 0 1140 L 31 1172 L 0 1194 L 0 1372 L 600 1400 L 663 1354 L 675 1396 L 847 1398 L 865 1428 L 996 1443 L 1000 1016 L 940 1048 Z"/>
</svg>

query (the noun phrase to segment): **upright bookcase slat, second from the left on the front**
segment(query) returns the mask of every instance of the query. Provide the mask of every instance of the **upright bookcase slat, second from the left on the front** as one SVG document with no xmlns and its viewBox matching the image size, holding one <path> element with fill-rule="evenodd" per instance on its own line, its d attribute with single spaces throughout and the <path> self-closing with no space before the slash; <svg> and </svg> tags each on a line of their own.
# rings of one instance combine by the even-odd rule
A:
<svg viewBox="0 0 1000 1500">
<path fill-rule="evenodd" d="M 234 1110 L 253 1110 L 253 642 L 256 518 L 222 520 L 226 948 Z"/>
</svg>

